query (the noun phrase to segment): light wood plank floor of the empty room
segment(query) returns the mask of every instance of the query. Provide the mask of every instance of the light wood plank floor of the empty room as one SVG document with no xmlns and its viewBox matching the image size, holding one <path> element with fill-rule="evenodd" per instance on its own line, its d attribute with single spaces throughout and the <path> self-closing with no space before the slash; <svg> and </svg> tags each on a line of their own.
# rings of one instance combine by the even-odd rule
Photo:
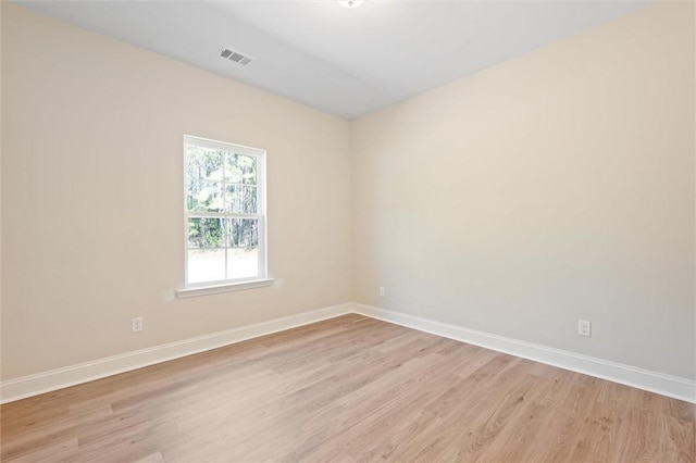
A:
<svg viewBox="0 0 696 463">
<path fill-rule="evenodd" d="M 0 412 L 2 461 L 696 459 L 693 404 L 359 315 Z"/>
</svg>

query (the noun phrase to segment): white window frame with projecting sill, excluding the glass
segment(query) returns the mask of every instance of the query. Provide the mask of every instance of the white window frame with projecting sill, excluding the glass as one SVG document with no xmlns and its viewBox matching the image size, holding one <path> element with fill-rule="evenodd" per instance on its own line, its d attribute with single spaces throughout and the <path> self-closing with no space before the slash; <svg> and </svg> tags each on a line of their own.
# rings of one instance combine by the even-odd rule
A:
<svg viewBox="0 0 696 463">
<path fill-rule="evenodd" d="M 189 211 L 187 203 L 188 168 L 186 159 L 186 148 L 196 146 L 206 149 L 234 152 L 238 154 L 254 157 L 257 159 L 257 213 L 245 214 L 234 212 L 199 212 Z M 273 279 L 268 277 L 268 236 L 266 236 L 266 203 L 265 203 L 265 150 L 259 148 L 245 147 L 224 141 L 211 140 L 207 138 L 184 135 L 184 289 L 177 291 L 179 298 L 203 296 L 240 289 L 258 288 L 270 286 Z M 256 218 L 259 227 L 258 247 L 258 275 L 253 277 L 222 279 L 214 281 L 188 281 L 188 218 L 189 217 L 225 217 L 225 218 Z M 226 255 L 226 253 L 225 253 Z M 226 268 L 226 263 L 225 263 Z"/>
</svg>

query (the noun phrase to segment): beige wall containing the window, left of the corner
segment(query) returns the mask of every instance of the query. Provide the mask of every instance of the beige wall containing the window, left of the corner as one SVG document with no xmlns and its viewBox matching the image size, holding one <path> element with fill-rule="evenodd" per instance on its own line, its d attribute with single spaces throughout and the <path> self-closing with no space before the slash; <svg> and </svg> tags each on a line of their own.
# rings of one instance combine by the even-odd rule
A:
<svg viewBox="0 0 696 463">
<path fill-rule="evenodd" d="M 2 9 L 3 379 L 350 301 L 346 121 Z M 165 302 L 184 134 L 268 150 L 282 287 Z"/>
</svg>

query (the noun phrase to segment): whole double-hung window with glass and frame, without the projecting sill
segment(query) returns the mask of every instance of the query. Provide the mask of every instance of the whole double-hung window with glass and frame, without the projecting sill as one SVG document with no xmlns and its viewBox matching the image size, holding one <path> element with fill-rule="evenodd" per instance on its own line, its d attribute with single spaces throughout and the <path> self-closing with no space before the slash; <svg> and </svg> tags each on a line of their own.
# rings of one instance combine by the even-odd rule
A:
<svg viewBox="0 0 696 463">
<path fill-rule="evenodd" d="M 265 151 L 184 137 L 186 287 L 266 277 Z"/>
</svg>

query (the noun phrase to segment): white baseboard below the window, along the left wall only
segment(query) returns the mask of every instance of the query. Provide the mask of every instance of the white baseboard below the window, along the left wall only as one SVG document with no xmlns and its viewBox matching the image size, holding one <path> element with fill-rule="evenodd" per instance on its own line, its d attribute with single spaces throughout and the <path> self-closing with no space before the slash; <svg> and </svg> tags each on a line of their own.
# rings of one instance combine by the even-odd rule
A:
<svg viewBox="0 0 696 463">
<path fill-rule="evenodd" d="M 0 403 L 12 402 L 247 339 L 333 318 L 350 313 L 351 308 L 352 305 L 349 303 L 334 305 L 1 381 Z"/>
</svg>

